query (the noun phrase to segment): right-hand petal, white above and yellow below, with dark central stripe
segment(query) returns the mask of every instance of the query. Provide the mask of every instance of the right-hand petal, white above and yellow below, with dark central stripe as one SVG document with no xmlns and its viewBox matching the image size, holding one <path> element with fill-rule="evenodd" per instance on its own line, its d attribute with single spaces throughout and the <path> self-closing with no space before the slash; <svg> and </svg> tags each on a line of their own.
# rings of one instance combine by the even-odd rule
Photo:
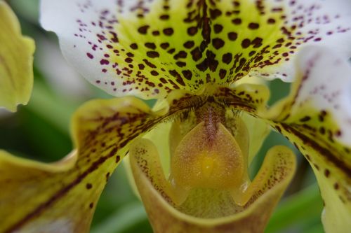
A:
<svg viewBox="0 0 351 233">
<path fill-rule="evenodd" d="M 300 150 L 317 177 L 326 232 L 351 228 L 351 66 L 331 50 L 303 50 L 291 94 L 263 115 Z"/>
</svg>

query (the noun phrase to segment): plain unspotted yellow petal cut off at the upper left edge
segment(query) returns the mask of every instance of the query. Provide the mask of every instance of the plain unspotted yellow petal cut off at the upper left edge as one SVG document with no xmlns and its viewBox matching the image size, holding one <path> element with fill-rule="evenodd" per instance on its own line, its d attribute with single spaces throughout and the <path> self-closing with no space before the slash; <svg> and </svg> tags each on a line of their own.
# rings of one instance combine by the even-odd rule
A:
<svg viewBox="0 0 351 233">
<path fill-rule="evenodd" d="M 0 106 L 14 112 L 18 104 L 27 104 L 32 92 L 34 41 L 22 36 L 5 1 L 0 1 L 0 31 Z"/>
</svg>

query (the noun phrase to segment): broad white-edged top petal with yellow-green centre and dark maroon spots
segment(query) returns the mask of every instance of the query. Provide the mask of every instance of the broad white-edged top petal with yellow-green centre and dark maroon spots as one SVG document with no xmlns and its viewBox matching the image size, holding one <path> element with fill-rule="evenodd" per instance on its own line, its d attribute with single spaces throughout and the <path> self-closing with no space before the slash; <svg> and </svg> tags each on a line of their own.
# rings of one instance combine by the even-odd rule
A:
<svg viewBox="0 0 351 233">
<path fill-rule="evenodd" d="M 249 74 L 291 81 L 310 43 L 350 55 L 350 1 L 41 1 L 41 23 L 91 83 L 164 97 Z"/>
</svg>

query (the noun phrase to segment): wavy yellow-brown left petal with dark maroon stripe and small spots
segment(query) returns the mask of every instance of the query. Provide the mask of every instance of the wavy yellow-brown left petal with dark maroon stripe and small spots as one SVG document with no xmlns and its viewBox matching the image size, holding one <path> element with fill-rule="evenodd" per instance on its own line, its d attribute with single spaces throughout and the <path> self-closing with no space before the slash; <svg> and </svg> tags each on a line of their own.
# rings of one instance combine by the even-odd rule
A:
<svg viewBox="0 0 351 233">
<path fill-rule="evenodd" d="M 161 115 L 132 97 L 96 100 L 73 118 L 77 150 L 43 164 L 0 151 L 0 232 L 88 232 L 95 205 L 128 143 Z"/>
</svg>

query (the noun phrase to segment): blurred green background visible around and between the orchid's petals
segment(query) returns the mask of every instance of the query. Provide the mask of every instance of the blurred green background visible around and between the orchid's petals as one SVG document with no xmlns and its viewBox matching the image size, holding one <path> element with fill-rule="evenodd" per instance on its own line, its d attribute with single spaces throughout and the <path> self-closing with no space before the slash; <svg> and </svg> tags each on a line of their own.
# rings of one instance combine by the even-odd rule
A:
<svg viewBox="0 0 351 233">
<path fill-rule="evenodd" d="M 32 160 L 60 160 L 72 150 L 69 121 L 75 109 L 88 99 L 111 96 L 88 84 L 65 63 L 55 35 L 39 25 L 38 0 L 11 0 L 8 3 L 20 19 L 23 34 L 36 41 L 37 51 L 34 90 L 29 104 L 20 106 L 17 113 L 0 110 L 0 148 Z M 270 104 L 289 92 L 289 85 L 279 80 L 270 83 L 270 88 Z M 276 144 L 293 148 L 283 136 L 272 132 L 251 165 L 252 176 L 258 171 L 267 150 Z M 266 232 L 323 232 L 319 189 L 306 160 L 298 151 L 296 154 L 298 171 Z M 128 185 L 123 166 L 117 168 L 102 193 L 91 232 L 152 232 L 143 205 Z"/>
</svg>

